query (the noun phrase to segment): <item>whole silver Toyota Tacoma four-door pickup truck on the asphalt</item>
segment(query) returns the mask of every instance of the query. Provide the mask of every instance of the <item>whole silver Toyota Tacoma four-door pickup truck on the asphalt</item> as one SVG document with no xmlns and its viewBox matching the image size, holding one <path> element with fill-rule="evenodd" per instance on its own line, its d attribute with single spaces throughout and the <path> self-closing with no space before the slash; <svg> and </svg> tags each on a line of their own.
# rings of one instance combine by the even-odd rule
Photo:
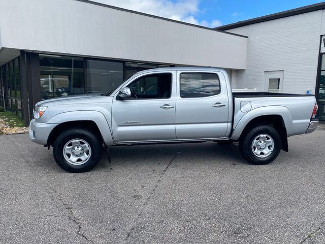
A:
<svg viewBox="0 0 325 244">
<path fill-rule="evenodd" d="M 37 103 L 29 137 L 53 146 L 69 172 L 91 170 L 103 147 L 174 142 L 239 141 L 242 156 L 263 165 L 288 151 L 288 136 L 313 132 L 316 112 L 313 95 L 232 93 L 222 69 L 163 68 L 106 94 Z"/>
</svg>

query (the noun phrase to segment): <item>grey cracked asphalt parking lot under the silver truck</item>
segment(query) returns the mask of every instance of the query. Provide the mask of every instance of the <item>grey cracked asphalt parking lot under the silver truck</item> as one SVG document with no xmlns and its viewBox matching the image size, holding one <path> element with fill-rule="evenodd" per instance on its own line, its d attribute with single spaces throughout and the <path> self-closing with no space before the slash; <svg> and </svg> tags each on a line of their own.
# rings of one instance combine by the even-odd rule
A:
<svg viewBox="0 0 325 244">
<path fill-rule="evenodd" d="M 214 142 L 111 147 L 72 174 L 0 136 L 0 243 L 325 243 L 325 126 L 247 164 Z"/>
</svg>

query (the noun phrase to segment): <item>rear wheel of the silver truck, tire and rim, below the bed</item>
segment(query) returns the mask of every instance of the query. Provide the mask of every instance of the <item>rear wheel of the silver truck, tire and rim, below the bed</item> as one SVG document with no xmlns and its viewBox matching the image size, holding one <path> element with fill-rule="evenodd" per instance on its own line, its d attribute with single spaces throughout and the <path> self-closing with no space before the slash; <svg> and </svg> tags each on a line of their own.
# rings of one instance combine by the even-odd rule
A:
<svg viewBox="0 0 325 244">
<path fill-rule="evenodd" d="M 275 160 L 281 150 L 281 136 L 271 126 L 253 128 L 239 141 L 242 156 L 252 164 L 265 165 Z"/>
</svg>

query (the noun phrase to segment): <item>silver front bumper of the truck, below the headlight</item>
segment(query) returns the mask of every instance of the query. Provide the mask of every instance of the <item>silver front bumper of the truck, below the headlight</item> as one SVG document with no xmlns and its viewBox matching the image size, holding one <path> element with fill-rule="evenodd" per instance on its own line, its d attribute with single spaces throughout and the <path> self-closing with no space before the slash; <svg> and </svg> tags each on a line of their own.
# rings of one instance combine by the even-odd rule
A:
<svg viewBox="0 0 325 244">
<path fill-rule="evenodd" d="M 59 124 L 39 123 L 35 119 L 29 123 L 29 139 L 32 142 L 45 145 L 51 131 Z"/>
</svg>

